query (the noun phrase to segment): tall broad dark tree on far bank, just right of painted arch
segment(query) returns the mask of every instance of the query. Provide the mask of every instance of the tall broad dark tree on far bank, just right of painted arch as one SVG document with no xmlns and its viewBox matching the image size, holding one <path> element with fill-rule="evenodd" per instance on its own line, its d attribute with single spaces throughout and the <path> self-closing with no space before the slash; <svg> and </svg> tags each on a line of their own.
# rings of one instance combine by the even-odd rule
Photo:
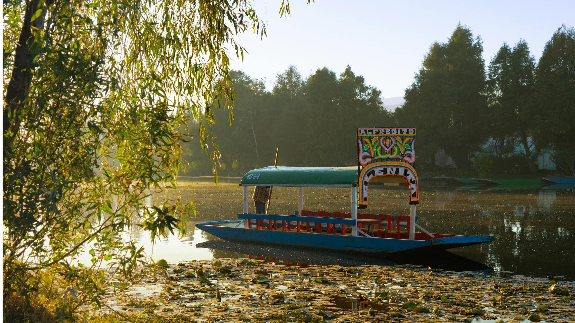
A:
<svg viewBox="0 0 575 323">
<path fill-rule="evenodd" d="M 458 24 L 447 43 L 431 45 L 397 113 L 418 127 L 419 138 L 432 138 L 418 147 L 426 141 L 432 149 L 443 148 L 464 169 L 488 138 L 482 52 L 481 39 Z M 434 153 L 426 152 L 427 159 Z"/>
</svg>

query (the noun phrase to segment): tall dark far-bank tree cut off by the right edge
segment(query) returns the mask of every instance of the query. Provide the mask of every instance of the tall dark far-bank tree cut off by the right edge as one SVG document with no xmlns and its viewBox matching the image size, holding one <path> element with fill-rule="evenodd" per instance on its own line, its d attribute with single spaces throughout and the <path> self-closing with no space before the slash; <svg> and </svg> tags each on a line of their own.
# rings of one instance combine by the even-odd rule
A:
<svg viewBox="0 0 575 323">
<path fill-rule="evenodd" d="M 575 29 L 559 27 L 545 44 L 536 68 L 541 136 L 553 145 L 558 167 L 575 175 Z"/>
</svg>

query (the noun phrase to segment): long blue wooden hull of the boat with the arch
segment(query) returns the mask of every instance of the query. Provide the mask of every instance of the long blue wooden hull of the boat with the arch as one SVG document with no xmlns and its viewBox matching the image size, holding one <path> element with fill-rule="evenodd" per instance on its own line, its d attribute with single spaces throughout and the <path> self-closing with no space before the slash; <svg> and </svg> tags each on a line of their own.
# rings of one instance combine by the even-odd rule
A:
<svg viewBox="0 0 575 323">
<path fill-rule="evenodd" d="M 233 228 L 232 226 L 222 225 L 239 224 L 240 221 L 241 220 L 203 222 L 196 224 L 196 228 L 224 240 L 363 254 L 385 254 L 408 250 L 450 249 L 493 241 L 493 236 L 452 236 L 430 240 L 407 240 Z"/>
</svg>

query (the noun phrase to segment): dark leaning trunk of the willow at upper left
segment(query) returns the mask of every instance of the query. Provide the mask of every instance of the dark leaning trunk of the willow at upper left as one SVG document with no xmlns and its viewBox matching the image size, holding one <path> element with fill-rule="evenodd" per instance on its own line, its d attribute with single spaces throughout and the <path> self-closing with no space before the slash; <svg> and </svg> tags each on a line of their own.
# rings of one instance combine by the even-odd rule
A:
<svg viewBox="0 0 575 323">
<path fill-rule="evenodd" d="M 42 1 L 31 0 L 26 2 L 26 11 L 24 14 L 24 21 L 22 22 L 22 30 L 20 32 L 20 38 L 18 39 L 16 53 L 14 55 L 14 69 L 12 70 L 10 82 L 6 89 L 6 97 L 4 98 L 2 124 L 4 127 L 3 145 L 5 154 L 9 151 L 9 148 L 14 141 L 14 137 L 16 137 L 16 134 L 20 129 L 20 116 L 24 113 L 22 110 L 24 109 L 26 100 L 28 99 L 30 83 L 32 83 L 32 63 L 34 57 L 32 52 L 30 52 L 30 48 L 35 40 L 35 34 L 32 33 L 32 28 L 37 28 L 38 31 L 44 29 L 44 17 L 46 16 L 45 11 L 34 21 L 30 20 L 32 20 L 33 14 L 39 9 L 46 10 L 46 7 L 43 7 Z M 6 163 L 6 161 L 5 155 L 4 162 Z"/>
</svg>

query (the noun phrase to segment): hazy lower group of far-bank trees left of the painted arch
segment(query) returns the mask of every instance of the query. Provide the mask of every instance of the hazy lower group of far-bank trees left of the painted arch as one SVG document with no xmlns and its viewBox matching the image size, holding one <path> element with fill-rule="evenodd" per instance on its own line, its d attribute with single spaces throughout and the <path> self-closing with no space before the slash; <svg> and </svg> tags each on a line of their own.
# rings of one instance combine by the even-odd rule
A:
<svg viewBox="0 0 575 323">
<path fill-rule="evenodd" d="M 244 72 L 233 71 L 230 76 L 237 93 L 233 126 L 224 122 L 228 111 L 223 109 L 214 110 L 218 122 L 212 124 L 214 141 L 223 152 L 223 175 L 273 164 L 276 147 L 281 165 L 353 165 L 355 128 L 393 123 L 382 107 L 381 91 L 368 86 L 349 66 L 339 76 L 324 67 L 306 79 L 290 66 L 277 75 L 271 92 L 263 80 Z M 189 126 L 196 127 L 193 121 Z M 185 153 L 190 174 L 210 174 L 212 163 L 201 147 L 191 141 Z"/>
</svg>

